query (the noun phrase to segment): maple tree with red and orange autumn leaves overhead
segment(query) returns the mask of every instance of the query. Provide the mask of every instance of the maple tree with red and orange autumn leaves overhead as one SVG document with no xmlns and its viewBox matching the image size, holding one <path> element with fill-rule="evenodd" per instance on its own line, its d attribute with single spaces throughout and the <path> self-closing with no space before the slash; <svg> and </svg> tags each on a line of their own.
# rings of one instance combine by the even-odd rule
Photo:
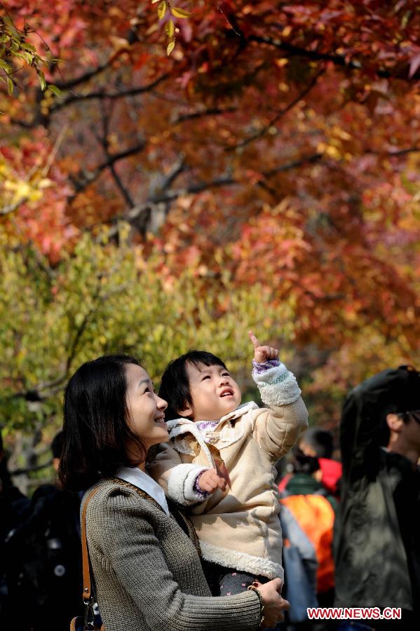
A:
<svg viewBox="0 0 420 631">
<path fill-rule="evenodd" d="M 176 296 L 182 313 L 177 346 L 168 348 L 176 354 L 202 341 L 243 358 L 240 336 L 224 323 L 241 318 L 246 330 L 254 316 L 259 332 L 278 338 L 319 422 L 337 421 L 358 380 L 415 362 L 418 3 L 177 1 L 191 16 L 165 11 L 159 22 L 146 1 L 3 4 L 16 27 L 30 25 L 39 53 L 45 41 L 60 60 L 45 69 L 60 93 L 42 90 L 30 67 L 20 69 L 20 89 L 0 93 L 6 251 L 30 250 L 56 283 L 63 265 L 87 264 L 80 243 L 86 251 L 102 243 L 104 226 L 108 243 L 98 247 L 118 257 L 127 222 L 130 273 L 140 285 L 151 273 L 148 283 L 167 299 L 160 308 L 174 315 Z M 24 278 L 36 304 L 38 280 Z M 123 275 L 109 282 L 123 286 Z M 26 295 L 23 285 L 15 293 L 15 281 L 8 285 L 12 303 Z M 86 300 L 83 283 L 76 286 Z M 68 285 L 54 287 L 52 304 L 66 304 Z M 250 296 L 264 308 L 252 312 Z M 133 322 L 139 302 L 124 299 L 123 318 Z M 92 326 L 99 318 L 106 327 L 95 313 Z M 144 317 L 159 322 L 151 306 Z M 123 344 L 123 318 L 107 327 L 111 348 Z M 54 338 L 65 344 L 70 320 L 60 327 Z M 140 353 L 142 330 L 128 345 Z M 91 331 L 74 362 L 108 348 Z M 48 348 L 44 363 L 60 373 Z M 35 353 L 28 346 L 14 371 L 20 381 L 2 378 L 11 395 L 50 379 L 29 371 Z M 158 355 L 154 374 L 168 359 Z M 11 420 L 4 414 L 2 423 Z"/>
</svg>

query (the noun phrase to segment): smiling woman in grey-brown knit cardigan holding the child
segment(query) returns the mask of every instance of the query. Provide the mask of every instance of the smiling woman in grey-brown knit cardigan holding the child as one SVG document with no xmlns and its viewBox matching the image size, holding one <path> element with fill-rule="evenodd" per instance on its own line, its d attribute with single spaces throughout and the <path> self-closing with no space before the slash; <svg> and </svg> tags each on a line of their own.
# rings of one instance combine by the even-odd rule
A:
<svg viewBox="0 0 420 631">
<path fill-rule="evenodd" d="M 166 407 L 147 372 L 126 355 L 83 364 L 65 391 L 60 480 L 67 489 L 99 489 L 86 525 L 104 626 L 246 631 L 274 625 L 288 607 L 278 594 L 280 579 L 258 585 L 258 592 L 211 597 L 187 535 L 194 541 L 194 533 L 146 473 L 147 451 L 168 440 Z"/>
</svg>

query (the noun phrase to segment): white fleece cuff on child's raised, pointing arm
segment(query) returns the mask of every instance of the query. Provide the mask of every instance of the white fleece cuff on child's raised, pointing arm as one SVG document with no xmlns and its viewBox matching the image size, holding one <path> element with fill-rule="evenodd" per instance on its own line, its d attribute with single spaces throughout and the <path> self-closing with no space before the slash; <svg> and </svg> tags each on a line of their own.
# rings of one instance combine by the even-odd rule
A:
<svg viewBox="0 0 420 631">
<path fill-rule="evenodd" d="M 277 365 L 270 365 L 272 362 L 277 362 Z M 297 401 L 301 395 L 294 374 L 278 360 L 254 365 L 252 379 L 258 386 L 262 401 L 267 405 L 287 405 Z"/>
</svg>

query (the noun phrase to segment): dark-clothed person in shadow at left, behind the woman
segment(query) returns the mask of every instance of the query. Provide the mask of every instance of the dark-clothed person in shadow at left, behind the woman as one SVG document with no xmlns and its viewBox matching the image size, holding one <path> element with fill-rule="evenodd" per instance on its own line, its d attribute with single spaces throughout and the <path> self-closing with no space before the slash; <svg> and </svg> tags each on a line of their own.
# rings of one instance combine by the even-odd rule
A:
<svg viewBox="0 0 420 631">
<path fill-rule="evenodd" d="M 51 443 L 57 471 L 63 433 Z M 15 626 L 32 631 L 67 630 L 83 612 L 80 513 L 81 495 L 43 484 L 32 496 L 28 515 L 6 541 L 8 583 L 15 602 Z"/>
</svg>

